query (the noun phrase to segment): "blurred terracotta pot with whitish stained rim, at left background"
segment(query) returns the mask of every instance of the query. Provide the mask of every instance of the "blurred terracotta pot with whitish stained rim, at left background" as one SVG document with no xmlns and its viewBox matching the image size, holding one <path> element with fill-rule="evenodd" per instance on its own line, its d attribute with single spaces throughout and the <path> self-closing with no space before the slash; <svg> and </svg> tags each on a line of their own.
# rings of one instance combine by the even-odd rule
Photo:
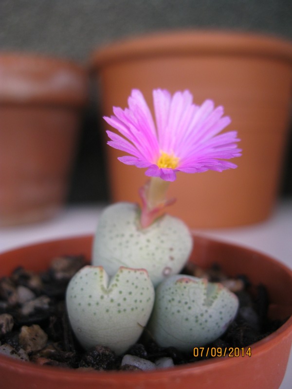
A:
<svg viewBox="0 0 292 389">
<path fill-rule="evenodd" d="M 74 63 L 0 53 L 0 226 L 53 216 L 73 162 L 86 72 Z"/>
</svg>

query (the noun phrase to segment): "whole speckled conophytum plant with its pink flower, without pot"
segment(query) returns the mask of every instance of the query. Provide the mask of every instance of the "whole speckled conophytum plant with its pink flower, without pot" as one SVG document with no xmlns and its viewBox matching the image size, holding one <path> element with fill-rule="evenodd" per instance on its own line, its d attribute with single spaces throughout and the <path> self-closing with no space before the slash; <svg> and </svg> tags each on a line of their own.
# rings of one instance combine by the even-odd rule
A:
<svg viewBox="0 0 292 389">
<path fill-rule="evenodd" d="M 173 96 L 153 90 L 153 110 L 155 120 L 133 89 L 128 108 L 114 107 L 104 118 L 119 132 L 107 131 L 108 144 L 128 154 L 119 160 L 146 168 L 150 179 L 139 191 L 141 207 L 117 203 L 104 210 L 92 265 L 68 285 L 69 319 L 84 348 L 103 344 L 123 354 L 148 322 L 158 344 L 188 351 L 219 337 L 237 313 L 237 297 L 222 285 L 178 274 L 196 243 L 183 221 L 165 214 L 178 172 L 237 167 L 226 161 L 241 155 L 237 132 L 219 134 L 230 124 L 223 107 L 211 100 L 197 106 L 188 90 Z"/>
</svg>

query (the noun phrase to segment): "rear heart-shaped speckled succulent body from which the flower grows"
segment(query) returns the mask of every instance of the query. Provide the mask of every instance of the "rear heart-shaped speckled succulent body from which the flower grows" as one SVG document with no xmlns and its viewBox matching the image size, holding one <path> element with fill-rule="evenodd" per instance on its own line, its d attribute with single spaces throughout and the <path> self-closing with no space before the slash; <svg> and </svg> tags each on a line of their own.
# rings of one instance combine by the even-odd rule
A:
<svg viewBox="0 0 292 389">
<path fill-rule="evenodd" d="M 103 266 L 110 275 L 120 266 L 145 268 L 156 286 L 183 268 L 192 246 L 191 234 L 180 219 L 164 215 L 141 229 L 138 206 L 117 203 L 99 219 L 92 264 Z"/>
</svg>

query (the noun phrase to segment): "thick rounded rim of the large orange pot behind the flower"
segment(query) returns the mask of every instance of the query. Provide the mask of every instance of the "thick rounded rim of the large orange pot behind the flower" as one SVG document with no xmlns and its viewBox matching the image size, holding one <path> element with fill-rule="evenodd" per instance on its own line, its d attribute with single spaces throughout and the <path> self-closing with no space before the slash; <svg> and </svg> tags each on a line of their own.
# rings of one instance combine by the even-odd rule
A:
<svg viewBox="0 0 292 389">
<path fill-rule="evenodd" d="M 123 61 L 174 55 L 230 55 L 277 59 L 292 65 L 292 42 L 251 32 L 172 30 L 138 35 L 106 45 L 92 53 L 91 71 Z"/>
</svg>

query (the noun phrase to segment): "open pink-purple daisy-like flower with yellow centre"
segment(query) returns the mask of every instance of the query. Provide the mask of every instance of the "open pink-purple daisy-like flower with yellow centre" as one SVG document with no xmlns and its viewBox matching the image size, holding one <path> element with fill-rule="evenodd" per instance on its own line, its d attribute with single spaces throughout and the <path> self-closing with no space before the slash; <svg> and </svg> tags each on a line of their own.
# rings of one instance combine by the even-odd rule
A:
<svg viewBox="0 0 292 389">
<path fill-rule="evenodd" d="M 201 106 L 193 104 L 188 91 L 173 96 L 162 89 L 153 90 L 155 122 L 140 90 L 133 89 L 128 108 L 114 107 L 114 116 L 104 117 L 116 128 L 117 135 L 107 131 L 108 144 L 125 151 L 119 160 L 139 168 L 147 168 L 146 176 L 174 181 L 176 172 L 221 172 L 237 167 L 224 159 L 239 157 L 237 132 L 219 134 L 231 120 L 223 115 L 223 107 L 211 100 Z"/>
</svg>

